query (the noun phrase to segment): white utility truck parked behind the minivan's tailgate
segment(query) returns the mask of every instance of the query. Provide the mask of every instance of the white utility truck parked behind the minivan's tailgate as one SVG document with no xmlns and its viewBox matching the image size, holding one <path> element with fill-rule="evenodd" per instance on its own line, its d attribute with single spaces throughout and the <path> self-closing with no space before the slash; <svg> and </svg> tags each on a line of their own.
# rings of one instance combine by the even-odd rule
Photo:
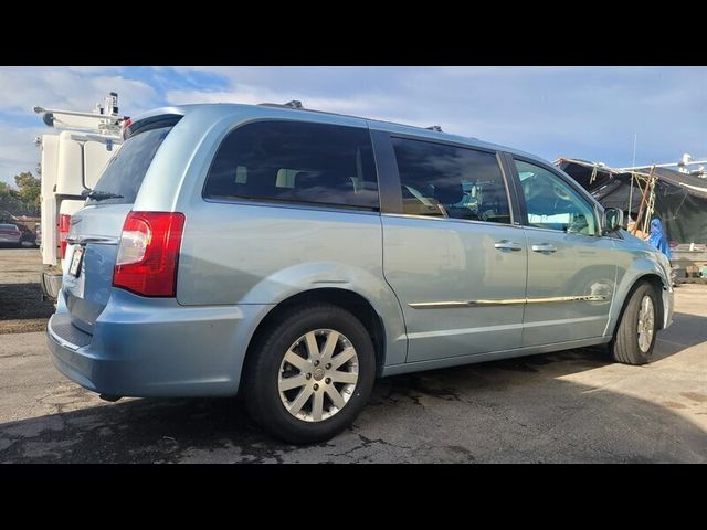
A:
<svg viewBox="0 0 707 530">
<path fill-rule="evenodd" d="M 34 107 L 57 132 L 42 135 L 42 292 L 56 299 L 71 216 L 83 208 L 110 157 L 123 142 L 128 117 L 118 116 L 118 95 L 112 92 L 91 113 Z"/>
</svg>

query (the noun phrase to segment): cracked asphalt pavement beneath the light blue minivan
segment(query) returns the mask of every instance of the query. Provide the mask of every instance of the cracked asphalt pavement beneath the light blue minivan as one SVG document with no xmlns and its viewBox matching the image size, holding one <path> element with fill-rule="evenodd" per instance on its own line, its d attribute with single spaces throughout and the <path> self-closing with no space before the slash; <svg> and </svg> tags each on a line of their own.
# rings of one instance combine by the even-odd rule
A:
<svg viewBox="0 0 707 530">
<path fill-rule="evenodd" d="M 309 446 L 270 438 L 238 399 L 101 401 L 42 332 L 0 335 L 0 463 L 707 463 L 705 295 L 676 289 L 646 367 L 582 349 L 382 379 Z"/>
</svg>

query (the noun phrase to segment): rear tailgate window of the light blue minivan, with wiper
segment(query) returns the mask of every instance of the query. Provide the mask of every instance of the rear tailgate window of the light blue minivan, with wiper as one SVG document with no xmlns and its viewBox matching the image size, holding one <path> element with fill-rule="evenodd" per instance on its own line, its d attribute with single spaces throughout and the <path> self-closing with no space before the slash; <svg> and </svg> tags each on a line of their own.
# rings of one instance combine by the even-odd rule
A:
<svg viewBox="0 0 707 530">
<path fill-rule="evenodd" d="M 175 118 L 159 120 L 131 136 L 115 153 L 98 178 L 94 190 L 122 197 L 88 199 L 88 204 L 133 204 L 155 153 L 176 124 Z"/>
</svg>

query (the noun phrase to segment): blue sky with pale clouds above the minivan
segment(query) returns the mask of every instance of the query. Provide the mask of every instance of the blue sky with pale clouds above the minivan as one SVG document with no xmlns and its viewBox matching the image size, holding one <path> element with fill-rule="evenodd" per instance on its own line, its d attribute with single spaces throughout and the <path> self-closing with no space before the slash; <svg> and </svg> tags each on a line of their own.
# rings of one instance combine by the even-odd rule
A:
<svg viewBox="0 0 707 530">
<path fill-rule="evenodd" d="M 285 103 L 630 166 L 707 158 L 705 67 L 0 67 L 0 180 L 34 171 L 33 106 L 120 114 L 168 104 Z"/>
</svg>

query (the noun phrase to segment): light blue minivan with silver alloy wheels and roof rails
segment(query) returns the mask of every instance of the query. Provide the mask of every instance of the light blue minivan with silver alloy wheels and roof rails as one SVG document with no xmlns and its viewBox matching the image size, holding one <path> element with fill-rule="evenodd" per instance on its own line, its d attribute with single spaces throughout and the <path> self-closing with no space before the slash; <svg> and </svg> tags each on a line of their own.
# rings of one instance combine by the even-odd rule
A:
<svg viewBox="0 0 707 530">
<path fill-rule="evenodd" d="M 531 155 L 295 103 L 160 108 L 125 138 L 48 327 L 105 399 L 241 393 L 308 443 L 377 377 L 591 344 L 641 364 L 671 324 L 667 258 Z"/>
</svg>

